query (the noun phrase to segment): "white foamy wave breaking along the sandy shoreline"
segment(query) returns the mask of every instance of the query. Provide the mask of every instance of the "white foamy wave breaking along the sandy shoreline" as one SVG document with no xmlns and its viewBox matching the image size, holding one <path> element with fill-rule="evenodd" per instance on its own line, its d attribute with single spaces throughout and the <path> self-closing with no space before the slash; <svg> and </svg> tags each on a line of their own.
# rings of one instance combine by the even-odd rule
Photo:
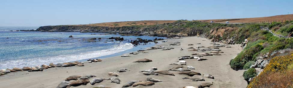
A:
<svg viewBox="0 0 293 88">
<path fill-rule="evenodd" d="M 0 67 L 2 69 L 6 69 L 6 68 L 13 68 L 13 67 L 38 66 L 38 65 L 49 64 L 49 63 L 63 63 L 63 62 L 69 62 L 69 61 L 75 61 L 75 60 L 106 56 L 106 55 L 110 55 L 110 54 L 131 49 L 132 47 L 133 45 L 131 43 L 123 43 L 117 47 L 106 49 L 106 50 L 100 50 L 100 51 L 91 51 L 91 52 L 84 52 L 79 54 L 58 55 L 58 56 L 52 56 L 52 57 L 6 60 L 3 62 L 0 62 Z"/>
</svg>

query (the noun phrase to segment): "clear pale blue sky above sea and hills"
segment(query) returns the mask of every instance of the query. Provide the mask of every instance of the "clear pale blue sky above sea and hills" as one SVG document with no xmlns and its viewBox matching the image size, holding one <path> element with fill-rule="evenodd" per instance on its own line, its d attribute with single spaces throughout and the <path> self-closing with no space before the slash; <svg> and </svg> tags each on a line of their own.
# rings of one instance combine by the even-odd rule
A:
<svg viewBox="0 0 293 88">
<path fill-rule="evenodd" d="M 2 0 L 0 26 L 230 19 L 293 14 L 293 0 Z"/>
</svg>

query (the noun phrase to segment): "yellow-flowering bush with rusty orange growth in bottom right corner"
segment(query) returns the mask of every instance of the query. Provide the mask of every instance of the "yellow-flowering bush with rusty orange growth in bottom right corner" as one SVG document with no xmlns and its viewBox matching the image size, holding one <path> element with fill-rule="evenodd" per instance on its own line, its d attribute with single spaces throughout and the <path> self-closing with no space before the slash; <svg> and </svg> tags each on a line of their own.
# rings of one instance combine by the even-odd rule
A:
<svg viewBox="0 0 293 88">
<path fill-rule="evenodd" d="M 293 64 L 293 54 L 272 58 L 264 71 L 255 77 L 247 88 L 292 87 L 293 70 L 287 69 L 291 64 Z"/>
</svg>

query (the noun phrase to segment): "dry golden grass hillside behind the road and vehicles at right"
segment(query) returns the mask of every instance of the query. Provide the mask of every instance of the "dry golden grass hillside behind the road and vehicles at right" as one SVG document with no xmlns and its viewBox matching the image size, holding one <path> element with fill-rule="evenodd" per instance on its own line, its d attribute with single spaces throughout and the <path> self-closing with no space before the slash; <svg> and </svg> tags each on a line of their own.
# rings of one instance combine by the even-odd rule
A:
<svg viewBox="0 0 293 88">
<path fill-rule="evenodd" d="M 289 15 L 277 15 L 277 16 L 268 16 L 268 17 L 256 17 L 256 18 L 241 18 L 241 19 L 207 19 L 207 20 L 197 20 L 197 21 L 204 21 L 204 22 L 226 22 L 229 21 L 231 23 L 233 22 L 270 22 L 270 21 L 282 21 L 285 22 L 285 20 L 293 20 L 293 14 Z"/>
</svg>

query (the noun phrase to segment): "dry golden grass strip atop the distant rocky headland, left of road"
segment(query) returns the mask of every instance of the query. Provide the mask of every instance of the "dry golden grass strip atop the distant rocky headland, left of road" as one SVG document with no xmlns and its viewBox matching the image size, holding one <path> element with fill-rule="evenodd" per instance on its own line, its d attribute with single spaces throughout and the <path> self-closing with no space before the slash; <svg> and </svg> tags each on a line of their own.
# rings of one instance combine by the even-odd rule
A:
<svg viewBox="0 0 293 88">
<path fill-rule="evenodd" d="M 143 20 L 143 21 L 125 21 L 125 22 L 105 22 L 87 25 L 74 25 L 74 26 L 104 26 L 104 27 L 122 27 L 131 25 L 156 25 L 164 23 L 173 23 L 176 20 Z"/>
</svg>

